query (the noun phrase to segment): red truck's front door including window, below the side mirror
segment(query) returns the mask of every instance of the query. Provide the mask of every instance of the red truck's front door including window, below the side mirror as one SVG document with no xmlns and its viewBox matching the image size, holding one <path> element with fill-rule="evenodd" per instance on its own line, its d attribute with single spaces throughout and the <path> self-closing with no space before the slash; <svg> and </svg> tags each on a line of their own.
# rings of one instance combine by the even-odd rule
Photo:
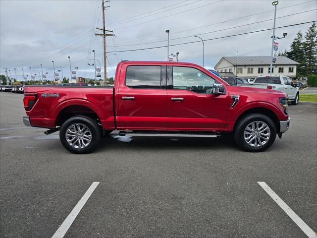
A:
<svg viewBox="0 0 317 238">
<path fill-rule="evenodd" d="M 167 66 L 167 130 L 224 129 L 228 96 L 211 94 L 217 83 L 207 72 Z"/>
</svg>

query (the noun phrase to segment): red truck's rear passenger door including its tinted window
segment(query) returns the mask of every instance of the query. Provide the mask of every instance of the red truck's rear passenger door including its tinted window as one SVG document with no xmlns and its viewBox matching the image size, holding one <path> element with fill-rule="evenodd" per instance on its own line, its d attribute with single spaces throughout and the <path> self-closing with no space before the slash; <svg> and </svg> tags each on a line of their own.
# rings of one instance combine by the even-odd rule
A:
<svg viewBox="0 0 317 238">
<path fill-rule="evenodd" d="M 119 129 L 166 129 L 166 64 L 123 64 L 116 94 Z"/>
</svg>

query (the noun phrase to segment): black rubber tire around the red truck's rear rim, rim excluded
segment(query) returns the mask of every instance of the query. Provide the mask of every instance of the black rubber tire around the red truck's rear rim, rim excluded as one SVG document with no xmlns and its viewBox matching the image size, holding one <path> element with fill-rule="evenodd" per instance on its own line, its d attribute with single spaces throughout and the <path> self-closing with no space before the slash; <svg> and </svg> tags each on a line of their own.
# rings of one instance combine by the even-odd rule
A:
<svg viewBox="0 0 317 238">
<path fill-rule="evenodd" d="M 70 125 L 74 123 L 80 123 L 87 126 L 91 132 L 91 141 L 84 148 L 75 148 L 67 142 L 66 130 Z M 101 138 L 101 132 L 96 121 L 86 116 L 75 116 L 75 117 L 67 119 L 61 125 L 60 131 L 59 131 L 59 139 L 62 145 L 65 147 L 65 149 L 67 149 L 68 151 L 74 154 L 87 154 L 92 152 L 95 149 L 95 147 L 98 145 L 98 143 L 100 142 L 100 138 Z"/>
</svg>

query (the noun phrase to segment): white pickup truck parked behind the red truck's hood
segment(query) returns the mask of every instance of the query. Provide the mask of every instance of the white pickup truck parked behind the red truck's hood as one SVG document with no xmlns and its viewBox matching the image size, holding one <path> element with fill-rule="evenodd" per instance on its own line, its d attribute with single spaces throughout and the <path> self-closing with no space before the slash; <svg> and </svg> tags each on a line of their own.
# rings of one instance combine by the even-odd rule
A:
<svg viewBox="0 0 317 238">
<path fill-rule="evenodd" d="M 293 105 L 299 103 L 299 85 L 294 84 L 292 80 L 286 76 L 259 76 L 256 77 L 254 83 L 238 84 L 237 86 L 283 91 L 289 97 L 288 101 L 291 101 Z"/>
</svg>

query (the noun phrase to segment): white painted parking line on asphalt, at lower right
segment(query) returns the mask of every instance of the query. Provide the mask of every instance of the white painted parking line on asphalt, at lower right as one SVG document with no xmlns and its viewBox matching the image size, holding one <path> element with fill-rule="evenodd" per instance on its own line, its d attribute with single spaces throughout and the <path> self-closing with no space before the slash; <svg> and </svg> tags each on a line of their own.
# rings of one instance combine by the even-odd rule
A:
<svg viewBox="0 0 317 238">
<path fill-rule="evenodd" d="M 317 234 L 265 182 L 258 183 L 309 238 L 317 238 Z"/>
</svg>

